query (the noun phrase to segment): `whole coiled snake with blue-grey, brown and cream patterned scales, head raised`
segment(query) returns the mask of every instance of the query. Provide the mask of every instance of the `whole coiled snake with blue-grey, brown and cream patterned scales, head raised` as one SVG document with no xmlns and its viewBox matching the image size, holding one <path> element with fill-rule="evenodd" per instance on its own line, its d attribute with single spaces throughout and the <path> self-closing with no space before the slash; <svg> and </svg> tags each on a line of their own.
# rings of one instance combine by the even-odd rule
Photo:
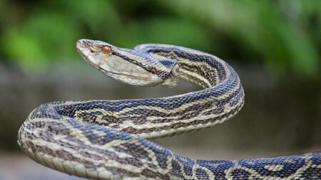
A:
<svg viewBox="0 0 321 180">
<path fill-rule="evenodd" d="M 201 90 L 131 100 L 69 100 L 37 107 L 18 144 L 35 162 L 87 179 L 321 179 L 321 152 L 240 160 L 190 159 L 148 139 L 213 127 L 243 107 L 238 74 L 224 60 L 191 48 L 146 43 L 133 49 L 81 39 L 78 53 L 130 85 Z M 210 138 L 210 137 L 208 137 Z"/>
</svg>

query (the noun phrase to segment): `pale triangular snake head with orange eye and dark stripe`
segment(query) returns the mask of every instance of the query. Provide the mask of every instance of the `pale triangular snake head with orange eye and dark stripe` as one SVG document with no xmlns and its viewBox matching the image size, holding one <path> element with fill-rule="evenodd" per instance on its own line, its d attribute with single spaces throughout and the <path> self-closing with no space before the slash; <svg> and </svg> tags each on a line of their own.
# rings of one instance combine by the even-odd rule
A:
<svg viewBox="0 0 321 180">
<path fill-rule="evenodd" d="M 173 86 L 178 81 L 175 60 L 89 39 L 78 40 L 76 47 L 90 65 L 123 83 Z"/>
</svg>

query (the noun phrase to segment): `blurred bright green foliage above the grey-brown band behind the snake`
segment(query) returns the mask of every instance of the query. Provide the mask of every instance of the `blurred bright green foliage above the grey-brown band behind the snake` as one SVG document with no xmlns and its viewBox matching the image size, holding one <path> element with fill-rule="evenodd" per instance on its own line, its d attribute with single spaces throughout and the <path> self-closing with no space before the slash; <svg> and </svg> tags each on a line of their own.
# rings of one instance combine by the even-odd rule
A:
<svg viewBox="0 0 321 180">
<path fill-rule="evenodd" d="M 79 38 L 170 43 L 272 72 L 320 75 L 321 1 L 0 1 L 0 60 L 26 70 L 76 59 Z"/>
</svg>

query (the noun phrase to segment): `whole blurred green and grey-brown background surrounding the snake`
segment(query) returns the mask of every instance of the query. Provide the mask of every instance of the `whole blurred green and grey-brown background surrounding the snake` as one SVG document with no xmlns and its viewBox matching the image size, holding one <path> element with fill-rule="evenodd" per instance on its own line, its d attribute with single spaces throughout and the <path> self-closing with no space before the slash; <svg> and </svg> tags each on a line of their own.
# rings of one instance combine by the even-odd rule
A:
<svg viewBox="0 0 321 180">
<path fill-rule="evenodd" d="M 177 95 L 105 77 L 76 53 L 92 38 L 133 48 L 169 43 L 213 53 L 239 73 L 245 106 L 232 120 L 156 139 L 198 159 L 321 150 L 321 1 L 0 1 L 0 179 L 77 179 L 27 159 L 16 144 L 38 105 L 56 100 Z M 20 169 L 17 171 L 17 169 Z"/>
</svg>

